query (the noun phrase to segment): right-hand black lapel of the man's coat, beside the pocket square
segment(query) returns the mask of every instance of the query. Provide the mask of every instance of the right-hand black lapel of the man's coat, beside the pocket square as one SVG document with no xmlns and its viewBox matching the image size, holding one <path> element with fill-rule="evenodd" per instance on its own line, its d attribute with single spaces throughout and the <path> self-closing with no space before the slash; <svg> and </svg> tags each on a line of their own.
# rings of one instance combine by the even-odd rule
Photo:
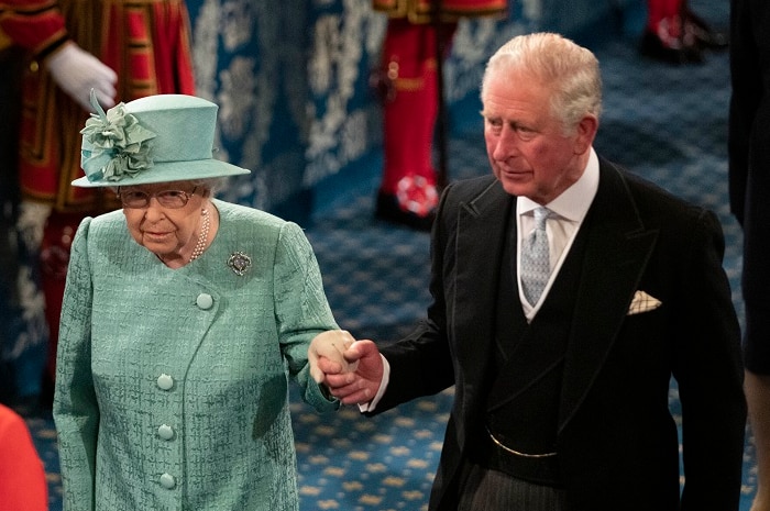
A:
<svg viewBox="0 0 770 511">
<path fill-rule="evenodd" d="M 658 231 L 644 225 L 627 181 L 602 160 L 579 285 L 574 325 L 566 348 L 559 431 L 574 415 L 602 368 L 626 318 Z M 582 227 L 581 227 L 582 229 Z"/>
</svg>

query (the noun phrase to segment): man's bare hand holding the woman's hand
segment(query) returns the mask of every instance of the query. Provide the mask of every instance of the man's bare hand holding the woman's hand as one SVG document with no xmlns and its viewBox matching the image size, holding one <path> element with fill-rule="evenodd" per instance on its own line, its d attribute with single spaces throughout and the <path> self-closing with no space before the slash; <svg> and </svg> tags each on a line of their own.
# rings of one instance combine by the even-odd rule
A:
<svg viewBox="0 0 770 511">
<path fill-rule="evenodd" d="M 326 375 L 323 382 L 343 404 L 363 404 L 377 393 L 383 380 L 383 357 L 374 342 L 356 341 L 343 353 L 352 371 L 344 371 L 334 360 L 320 358 L 318 367 Z M 350 366 L 355 364 L 355 366 Z"/>
</svg>

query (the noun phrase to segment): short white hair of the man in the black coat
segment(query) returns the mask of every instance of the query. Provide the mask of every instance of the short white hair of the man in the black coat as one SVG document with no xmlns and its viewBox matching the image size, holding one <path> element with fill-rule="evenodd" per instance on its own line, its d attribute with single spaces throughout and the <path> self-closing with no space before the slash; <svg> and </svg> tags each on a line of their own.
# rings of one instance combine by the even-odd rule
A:
<svg viewBox="0 0 770 511">
<path fill-rule="evenodd" d="M 585 114 L 602 114 L 602 75 L 596 56 L 559 34 L 519 35 L 503 45 L 488 60 L 481 86 L 482 102 L 492 78 L 522 71 L 551 88 L 551 112 L 572 132 Z M 512 87 L 516 87 L 513 82 Z"/>
</svg>

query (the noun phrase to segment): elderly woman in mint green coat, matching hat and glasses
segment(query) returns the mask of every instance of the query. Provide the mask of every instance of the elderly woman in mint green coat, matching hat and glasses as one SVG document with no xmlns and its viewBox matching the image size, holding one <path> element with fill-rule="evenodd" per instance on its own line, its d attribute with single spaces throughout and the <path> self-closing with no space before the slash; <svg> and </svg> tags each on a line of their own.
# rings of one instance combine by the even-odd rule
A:
<svg viewBox="0 0 770 511">
<path fill-rule="evenodd" d="M 212 198 L 249 173 L 211 157 L 216 104 L 94 102 L 73 185 L 123 208 L 73 242 L 54 400 L 65 509 L 296 510 L 288 381 L 339 407 L 310 376 L 311 341 L 338 329 L 311 247 Z"/>
</svg>

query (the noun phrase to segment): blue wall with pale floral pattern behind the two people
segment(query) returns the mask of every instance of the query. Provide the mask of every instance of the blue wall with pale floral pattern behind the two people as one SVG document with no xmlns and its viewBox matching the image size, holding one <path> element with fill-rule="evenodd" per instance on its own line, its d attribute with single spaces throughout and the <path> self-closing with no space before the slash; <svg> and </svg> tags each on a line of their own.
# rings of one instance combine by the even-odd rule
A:
<svg viewBox="0 0 770 511">
<path fill-rule="evenodd" d="M 507 20 L 461 23 L 444 65 L 452 129 L 480 122 L 483 63 L 509 37 L 585 32 L 629 2 L 522 0 Z M 220 105 L 219 157 L 252 170 L 223 199 L 306 221 L 314 190 L 372 171 L 358 167 L 381 151 L 369 75 L 386 19 L 367 0 L 190 0 L 188 8 L 198 95 Z"/>
</svg>

